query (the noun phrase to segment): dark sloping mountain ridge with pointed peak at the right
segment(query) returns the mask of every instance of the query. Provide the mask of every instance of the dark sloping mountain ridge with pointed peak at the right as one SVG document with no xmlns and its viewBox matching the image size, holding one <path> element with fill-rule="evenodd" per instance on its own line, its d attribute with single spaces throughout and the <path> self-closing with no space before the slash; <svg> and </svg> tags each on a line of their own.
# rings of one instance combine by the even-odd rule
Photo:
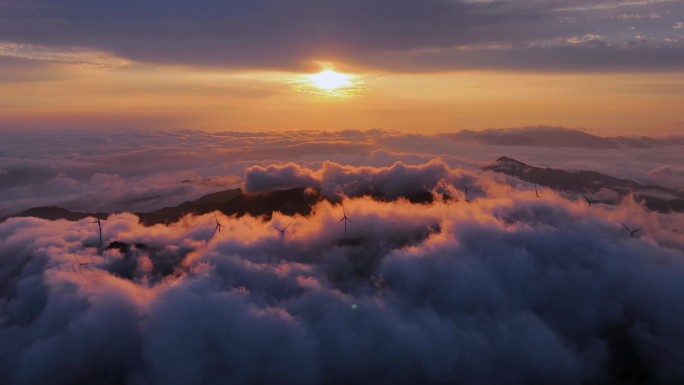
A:
<svg viewBox="0 0 684 385">
<path fill-rule="evenodd" d="M 684 211 L 684 192 L 682 191 L 656 185 L 644 186 L 629 179 L 620 179 L 596 171 L 570 172 L 553 168 L 539 168 L 506 156 L 502 156 L 484 169 L 500 172 L 554 190 L 588 194 L 609 190 L 618 198 L 633 194 L 638 202 L 643 202 L 650 210 L 660 212 Z"/>
</svg>

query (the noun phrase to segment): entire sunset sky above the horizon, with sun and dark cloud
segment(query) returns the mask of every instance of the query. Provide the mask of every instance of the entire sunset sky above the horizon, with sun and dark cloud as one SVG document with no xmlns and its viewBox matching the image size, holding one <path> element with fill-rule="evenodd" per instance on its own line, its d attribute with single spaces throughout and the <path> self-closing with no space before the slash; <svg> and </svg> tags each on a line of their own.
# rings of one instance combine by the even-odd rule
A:
<svg viewBox="0 0 684 385">
<path fill-rule="evenodd" d="M 0 0 L 5 130 L 667 135 L 682 105 L 684 1 Z"/>
</svg>

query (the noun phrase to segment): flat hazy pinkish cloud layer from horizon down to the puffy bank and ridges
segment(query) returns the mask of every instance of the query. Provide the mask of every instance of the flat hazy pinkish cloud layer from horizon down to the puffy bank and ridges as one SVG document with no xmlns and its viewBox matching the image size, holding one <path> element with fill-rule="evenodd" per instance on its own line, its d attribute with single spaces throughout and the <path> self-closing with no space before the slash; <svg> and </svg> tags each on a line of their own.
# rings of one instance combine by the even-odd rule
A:
<svg viewBox="0 0 684 385">
<path fill-rule="evenodd" d="M 289 162 L 319 169 L 325 161 L 390 167 L 398 161 L 411 165 L 439 158 L 470 170 L 507 154 L 540 167 L 593 170 L 684 189 L 684 173 L 678 172 L 684 145 L 660 142 L 649 148 L 501 146 L 384 130 L 46 131 L 39 136 L 0 133 L 0 140 L 6 144 L 0 152 L 0 216 L 39 206 L 150 212 L 244 187 L 249 167 Z M 182 161 L 177 154 L 183 154 Z M 266 190 L 309 185 L 302 182 Z"/>
</svg>

